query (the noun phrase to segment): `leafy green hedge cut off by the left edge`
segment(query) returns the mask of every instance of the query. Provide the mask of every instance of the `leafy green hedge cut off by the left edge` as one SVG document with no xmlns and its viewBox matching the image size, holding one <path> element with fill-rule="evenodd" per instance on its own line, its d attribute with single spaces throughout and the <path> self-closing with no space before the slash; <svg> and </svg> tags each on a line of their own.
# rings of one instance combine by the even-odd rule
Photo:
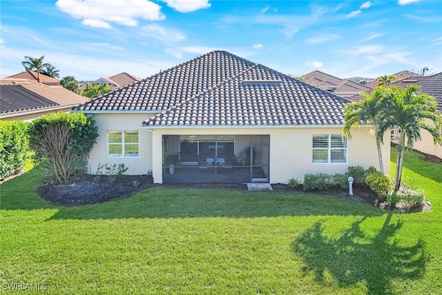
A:
<svg viewBox="0 0 442 295">
<path fill-rule="evenodd" d="M 0 179 L 21 171 L 28 160 L 29 123 L 0 121 Z"/>
</svg>

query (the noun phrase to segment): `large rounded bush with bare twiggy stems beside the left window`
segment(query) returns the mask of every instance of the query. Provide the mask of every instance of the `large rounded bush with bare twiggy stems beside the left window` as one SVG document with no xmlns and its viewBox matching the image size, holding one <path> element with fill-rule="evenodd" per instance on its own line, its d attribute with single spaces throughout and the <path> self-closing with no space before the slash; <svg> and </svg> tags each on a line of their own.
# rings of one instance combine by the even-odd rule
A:
<svg viewBox="0 0 442 295">
<path fill-rule="evenodd" d="M 98 137 L 95 120 L 84 113 L 51 113 L 30 124 L 35 162 L 57 182 L 68 182 L 86 170 Z"/>
</svg>

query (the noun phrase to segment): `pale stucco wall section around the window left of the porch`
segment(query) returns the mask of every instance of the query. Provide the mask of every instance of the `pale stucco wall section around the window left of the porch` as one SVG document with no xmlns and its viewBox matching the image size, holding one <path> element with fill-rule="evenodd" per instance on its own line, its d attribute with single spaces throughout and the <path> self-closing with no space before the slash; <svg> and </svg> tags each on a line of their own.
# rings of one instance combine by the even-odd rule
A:
<svg viewBox="0 0 442 295">
<path fill-rule="evenodd" d="M 128 167 L 126 174 L 143 175 L 152 170 L 152 133 L 142 128 L 142 122 L 155 114 L 146 113 L 94 113 L 99 137 L 89 157 L 89 173 L 95 174 L 99 163 L 120 164 Z M 108 158 L 106 153 L 106 131 L 138 131 L 140 139 L 139 157 Z M 161 155 L 160 152 L 158 155 Z M 161 159 L 160 159 L 161 160 Z"/>
</svg>

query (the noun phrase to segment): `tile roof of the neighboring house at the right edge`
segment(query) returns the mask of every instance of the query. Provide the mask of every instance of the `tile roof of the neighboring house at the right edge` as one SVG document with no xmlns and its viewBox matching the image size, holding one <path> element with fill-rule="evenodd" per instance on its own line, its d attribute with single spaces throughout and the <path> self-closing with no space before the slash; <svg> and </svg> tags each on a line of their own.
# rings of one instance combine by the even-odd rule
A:
<svg viewBox="0 0 442 295">
<path fill-rule="evenodd" d="M 406 88 L 413 84 L 421 86 L 419 92 L 427 93 L 436 98 L 437 109 L 442 113 L 442 73 L 432 76 L 408 77 L 407 79 L 392 83 L 392 85 L 398 88 Z"/>
</svg>

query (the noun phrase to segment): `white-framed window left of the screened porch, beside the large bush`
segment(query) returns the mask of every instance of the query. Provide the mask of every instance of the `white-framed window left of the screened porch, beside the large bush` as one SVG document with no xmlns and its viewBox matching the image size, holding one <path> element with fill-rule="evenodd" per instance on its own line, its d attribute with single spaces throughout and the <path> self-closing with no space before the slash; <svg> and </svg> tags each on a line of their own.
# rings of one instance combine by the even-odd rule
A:
<svg viewBox="0 0 442 295">
<path fill-rule="evenodd" d="M 108 131 L 108 157 L 138 157 L 138 131 Z"/>
</svg>

